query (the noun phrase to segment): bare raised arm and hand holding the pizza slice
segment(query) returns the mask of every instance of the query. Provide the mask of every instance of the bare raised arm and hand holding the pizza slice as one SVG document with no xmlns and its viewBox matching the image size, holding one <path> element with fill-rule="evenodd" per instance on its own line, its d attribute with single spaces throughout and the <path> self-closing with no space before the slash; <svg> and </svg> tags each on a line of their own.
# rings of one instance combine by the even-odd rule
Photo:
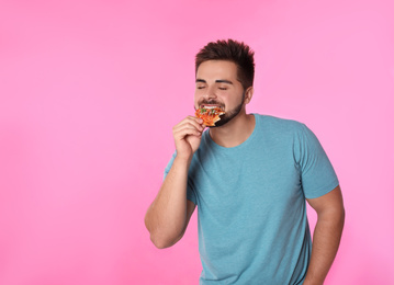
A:
<svg viewBox="0 0 394 285">
<path fill-rule="evenodd" d="M 159 249 L 171 247 L 183 237 L 195 208 L 194 203 L 187 200 L 188 172 L 203 129 L 202 119 L 192 116 L 172 129 L 177 157 L 145 215 L 150 240 Z"/>
</svg>

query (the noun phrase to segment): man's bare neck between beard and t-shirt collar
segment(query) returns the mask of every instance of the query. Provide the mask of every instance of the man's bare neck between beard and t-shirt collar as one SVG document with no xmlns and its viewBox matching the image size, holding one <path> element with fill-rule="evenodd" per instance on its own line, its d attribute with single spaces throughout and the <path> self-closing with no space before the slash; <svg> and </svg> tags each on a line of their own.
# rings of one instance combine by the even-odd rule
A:
<svg viewBox="0 0 394 285">
<path fill-rule="evenodd" d="M 239 146 L 254 133 L 255 116 L 245 109 L 230 122 L 221 127 L 210 128 L 210 136 L 217 145 L 226 148 Z"/>
</svg>

